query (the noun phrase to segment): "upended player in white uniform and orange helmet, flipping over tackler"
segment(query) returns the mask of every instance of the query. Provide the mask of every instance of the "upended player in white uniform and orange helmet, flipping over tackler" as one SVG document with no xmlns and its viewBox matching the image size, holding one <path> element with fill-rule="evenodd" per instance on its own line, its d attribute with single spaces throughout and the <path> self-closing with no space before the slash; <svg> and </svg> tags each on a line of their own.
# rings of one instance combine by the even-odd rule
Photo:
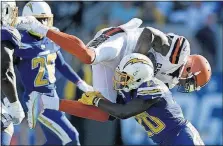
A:
<svg viewBox="0 0 223 146">
<path fill-rule="evenodd" d="M 199 65 L 208 65 L 208 62 L 199 55 L 190 56 L 186 38 L 151 27 L 139 28 L 141 23 L 142 20 L 134 18 L 124 25 L 103 29 L 88 45 L 75 36 L 49 29 L 31 17 L 23 19 L 18 27 L 47 36 L 83 63 L 92 64 L 93 87 L 112 102 L 117 96 L 111 80 L 115 67 L 123 56 L 133 52 L 148 55 L 154 62 L 156 77 L 169 88 L 178 84 L 183 92 L 192 92 L 210 80 L 211 70 L 195 71 L 195 58 L 205 61 Z"/>
</svg>

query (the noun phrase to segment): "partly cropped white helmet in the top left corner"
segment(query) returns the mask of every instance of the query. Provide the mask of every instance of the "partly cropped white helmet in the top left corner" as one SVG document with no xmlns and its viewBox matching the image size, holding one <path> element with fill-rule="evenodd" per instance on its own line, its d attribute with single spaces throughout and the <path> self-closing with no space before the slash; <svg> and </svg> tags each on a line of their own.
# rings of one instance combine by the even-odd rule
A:
<svg viewBox="0 0 223 146">
<path fill-rule="evenodd" d="M 15 0 L 1 1 L 1 24 L 13 26 L 18 16 Z"/>
</svg>

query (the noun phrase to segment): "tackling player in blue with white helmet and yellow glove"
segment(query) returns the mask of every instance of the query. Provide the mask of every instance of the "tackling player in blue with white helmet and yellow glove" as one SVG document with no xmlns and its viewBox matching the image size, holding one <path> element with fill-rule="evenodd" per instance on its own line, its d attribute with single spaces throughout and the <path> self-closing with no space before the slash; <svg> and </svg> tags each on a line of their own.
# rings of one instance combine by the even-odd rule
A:
<svg viewBox="0 0 223 146">
<path fill-rule="evenodd" d="M 113 82 L 114 89 L 123 97 L 123 104 L 108 102 L 95 92 L 85 93 L 79 101 L 95 105 L 119 119 L 134 116 L 157 144 L 204 145 L 168 87 L 154 77 L 149 58 L 138 53 L 125 56 L 116 68 Z"/>
</svg>

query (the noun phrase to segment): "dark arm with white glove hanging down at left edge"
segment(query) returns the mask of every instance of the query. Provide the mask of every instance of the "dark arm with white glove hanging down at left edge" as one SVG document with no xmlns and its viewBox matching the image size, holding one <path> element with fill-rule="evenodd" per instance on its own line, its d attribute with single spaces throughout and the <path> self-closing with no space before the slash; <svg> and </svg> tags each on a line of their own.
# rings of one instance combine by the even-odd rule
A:
<svg viewBox="0 0 223 146">
<path fill-rule="evenodd" d="M 16 76 L 13 66 L 14 45 L 10 41 L 1 41 L 1 87 L 8 98 L 8 108 L 14 124 L 20 124 L 25 117 L 23 108 L 18 99 Z"/>
</svg>

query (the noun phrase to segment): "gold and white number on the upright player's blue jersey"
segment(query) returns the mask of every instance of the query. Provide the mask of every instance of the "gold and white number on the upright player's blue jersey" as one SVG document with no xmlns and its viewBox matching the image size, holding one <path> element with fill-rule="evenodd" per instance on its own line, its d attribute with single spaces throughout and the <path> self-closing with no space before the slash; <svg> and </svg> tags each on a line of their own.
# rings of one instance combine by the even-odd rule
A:
<svg viewBox="0 0 223 146">
<path fill-rule="evenodd" d="M 48 54 L 47 56 L 40 56 L 32 59 L 32 69 L 39 67 L 38 74 L 34 81 L 35 87 L 45 86 L 56 81 L 55 77 L 55 60 L 56 53 Z M 48 73 L 48 79 L 44 79 L 45 73 Z"/>
</svg>

